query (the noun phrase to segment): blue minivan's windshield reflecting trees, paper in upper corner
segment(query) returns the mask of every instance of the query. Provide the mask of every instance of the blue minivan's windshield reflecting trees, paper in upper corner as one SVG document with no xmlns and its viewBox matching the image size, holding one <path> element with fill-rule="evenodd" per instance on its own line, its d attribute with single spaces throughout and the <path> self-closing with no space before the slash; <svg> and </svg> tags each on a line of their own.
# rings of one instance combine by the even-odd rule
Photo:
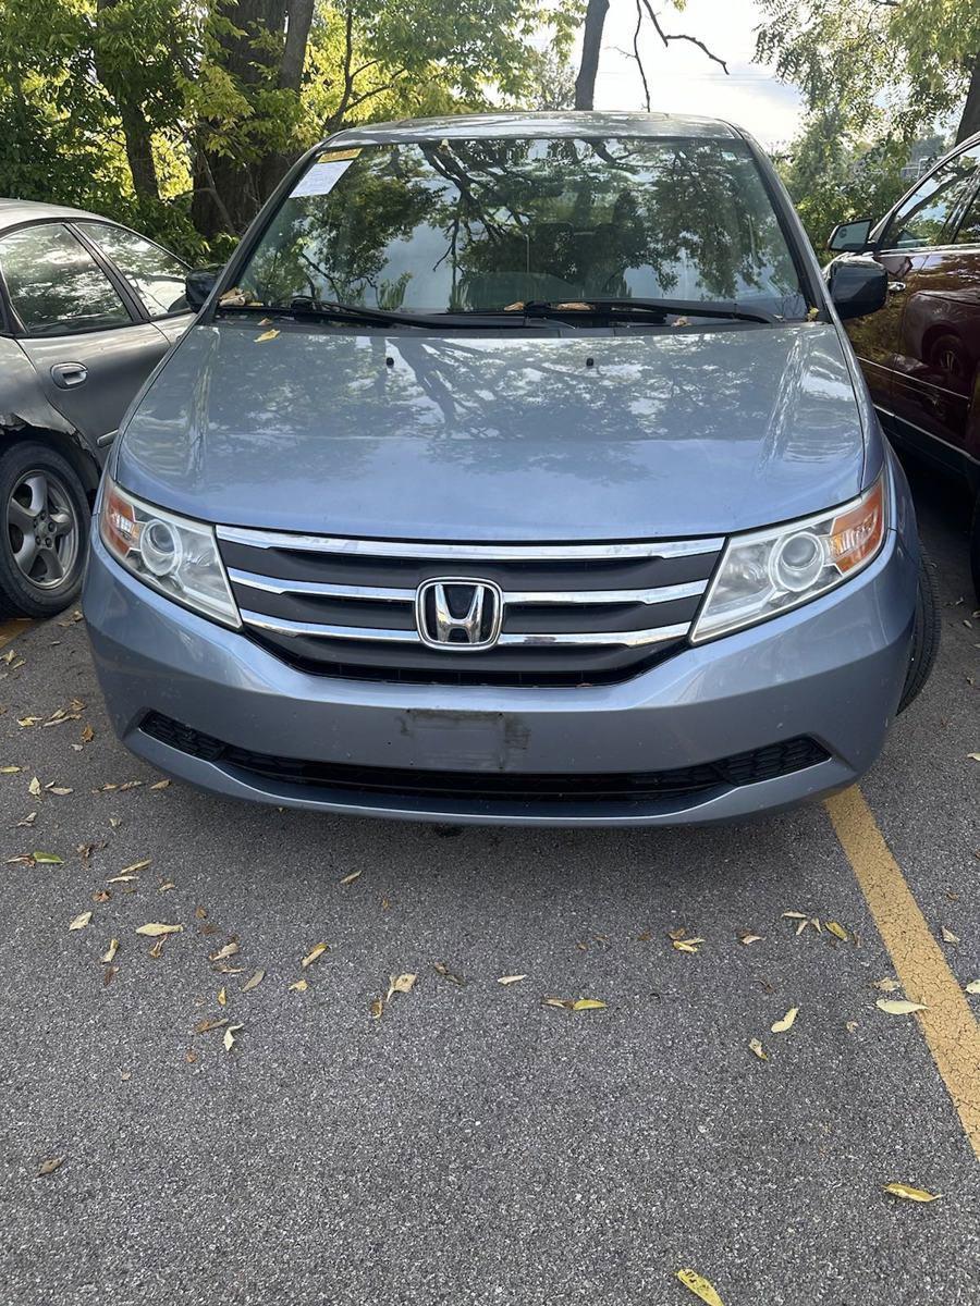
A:
<svg viewBox="0 0 980 1306">
<path fill-rule="evenodd" d="M 325 149 L 222 298 L 425 315 L 597 299 L 808 310 L 749 148 L 689 137 Z"/>
</svg>

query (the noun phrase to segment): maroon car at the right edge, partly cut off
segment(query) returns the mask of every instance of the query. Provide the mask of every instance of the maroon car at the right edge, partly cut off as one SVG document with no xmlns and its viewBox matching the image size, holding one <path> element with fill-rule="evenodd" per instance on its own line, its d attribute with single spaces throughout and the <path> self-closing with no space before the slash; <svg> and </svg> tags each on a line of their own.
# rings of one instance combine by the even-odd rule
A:
<svg viewBox="0 0 980 1306">
<path fill-rule="evenodd" d="M 886 306 L 847 330 L 889 435 L 966 478 L 980 597 L 980 135 L 939 159 L 881 222 L 840 223 L 828 246 L 872 257 L 889 274 Z"/>
</svg>

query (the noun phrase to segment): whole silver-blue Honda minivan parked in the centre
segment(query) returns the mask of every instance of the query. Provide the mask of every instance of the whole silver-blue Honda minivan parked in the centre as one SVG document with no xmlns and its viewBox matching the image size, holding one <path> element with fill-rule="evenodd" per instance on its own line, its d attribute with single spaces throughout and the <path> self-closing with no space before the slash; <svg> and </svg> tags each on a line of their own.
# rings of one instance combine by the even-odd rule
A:
<svg viewBox="0 0 980 1306">
<path fill-rule="evenodd" d="M 265 803 L 672 824 L 851 784 L 936 648 L 904 477 L 737 128 L 357 127 L 133 404 L 85 616 L 119 737 Z"/>
</svg>

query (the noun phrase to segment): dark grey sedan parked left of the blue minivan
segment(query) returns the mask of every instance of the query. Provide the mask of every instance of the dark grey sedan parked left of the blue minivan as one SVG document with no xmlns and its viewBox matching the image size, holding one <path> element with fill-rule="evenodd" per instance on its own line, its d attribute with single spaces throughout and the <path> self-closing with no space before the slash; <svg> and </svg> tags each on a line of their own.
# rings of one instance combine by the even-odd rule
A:
<svg viewBox="0 0 980 1306">
<path fill-rule="evenodd" d="M 0 199 L 0 613 L 77 597 L 107 448 L 191 321 L 186 273 L 108 218 Z"/>
</svg>

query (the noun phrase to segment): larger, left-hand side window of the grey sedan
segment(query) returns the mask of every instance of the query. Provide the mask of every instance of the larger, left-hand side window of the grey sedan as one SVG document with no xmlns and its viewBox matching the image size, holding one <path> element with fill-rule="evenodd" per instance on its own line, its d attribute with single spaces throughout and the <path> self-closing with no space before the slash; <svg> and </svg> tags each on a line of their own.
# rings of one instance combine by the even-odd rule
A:
<svg viewBox="0 0 980 1306">
<path fill-rule="evenodd" d="M 0 240 L 0 269 L 31 336 L 125 326 L 112 282 L 67 227 L 25 227 Z"/>
</svg>

